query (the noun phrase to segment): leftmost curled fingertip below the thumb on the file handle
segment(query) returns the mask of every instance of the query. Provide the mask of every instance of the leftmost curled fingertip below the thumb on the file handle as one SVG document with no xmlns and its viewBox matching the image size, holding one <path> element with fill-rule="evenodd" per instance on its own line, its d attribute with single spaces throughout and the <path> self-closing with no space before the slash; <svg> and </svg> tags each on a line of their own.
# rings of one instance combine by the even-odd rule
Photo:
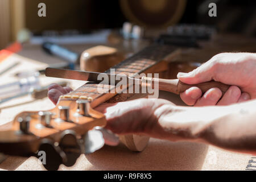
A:
<svg viewBox="0 0 256 182">
<path fill-rule="evenodd" d="M 192 106 L 196 103 L 196 101 L 202 96 L 201 89 L 193 86 L 187 89 L 185 92 L 180 93 L 180 98 L 185 102 L 185 104 Z"/>
</svg>

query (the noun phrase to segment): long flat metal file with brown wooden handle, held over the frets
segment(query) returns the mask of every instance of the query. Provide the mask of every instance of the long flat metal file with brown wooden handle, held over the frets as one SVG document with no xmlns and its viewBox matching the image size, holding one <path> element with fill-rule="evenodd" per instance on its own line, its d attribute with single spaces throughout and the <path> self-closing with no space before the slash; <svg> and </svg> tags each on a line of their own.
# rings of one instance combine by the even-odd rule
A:
<svg viewBox="0 0 256 182">
<path fill-rule="evenodd" d="M 150 86 L 155 88 L 158 86 L 159 90 L 164 90 L 167 92 L 172 92 L 175 94 L 180 94 L 185 90 L 197 86 L 201 89 L 202 93 L 207 92 L 210 88 L 219 88 L 222 94 L 228 90 L 230 85 L 223 84 L 217 81 L 207 81 L 200 84 L 189 85 L 184 82 L 179 81 L 179 79 L 162 79 L 162 78 L 152 78 L 143 76 L 141 79 L 128 77 L 123 75 L 115 75 L 109 73 L 97 73 L 97 72 L 85 72 L 85 71 L 72 71 L 69 69 L 56 69 L 56 68 L 46 68 L 46 76 L 57 77 L 57 78 L 67 78 L 72 80 L 84 80 L 93 81 L 101 84 L 117 85 L 118 82 L 126 79 L 126 83 L 134 83 L 142 86 Z"/>
</svg>

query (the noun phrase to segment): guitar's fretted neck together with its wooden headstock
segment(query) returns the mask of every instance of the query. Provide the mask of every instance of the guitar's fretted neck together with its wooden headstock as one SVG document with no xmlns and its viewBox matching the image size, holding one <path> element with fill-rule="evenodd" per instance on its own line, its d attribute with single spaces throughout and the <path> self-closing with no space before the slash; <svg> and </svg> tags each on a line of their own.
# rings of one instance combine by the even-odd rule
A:
<svg viewBox="0 0 256 182">
<path fill-rule="evenodd" d="M 158 63 L 162 62 L 173 50 L 174 48 L 169 46 L 150 46 L 113 68 L 117 73 L 126 75 L 129 73 L 154 73 L 152 70 L 157 72 L 158 69 L 155 67 L 159 67 Z M 106 72 L 110 72 L 110 70 Z M 102 88 L 102 86 L 104 87 Z M 85 142 L 86 135 L 84 134 L 89 130 L 95 126 L 105 126 L 105 115 L 94 110 L 93 107 L 114 97 L 117 94 L 111 92 L 114 88 L 114 85 L 87 82 L 80 88 L 61 96 L 56 107 L 51 110 L 19 113 L 13 119 L 10 129 L 0 132 L 0 152 L 9 155 L 30 156 L 41 150 L 40 147 L 46 145 L 50 147 L 49 150 L 47 149 L 47 155 L 52 154 L 52 148 L 61 158 L 60 163 L 65 164 L 65 159 L 61 157 L 61 150 L 65 151 L 65 145 L 62 144 L 63 140 L 64 144 L 69 141 L 65 141 L 64 136 L 69 138 L 73 135 L 75 143 L 81 144 L 81 142 Z M 104 89 L 104 92 L 100 93 L 100 89 Z M 73 134 L 69 134 L 69 130 Z M 46 138 L 47 141 L 43 140 Z M 78 148 L 80 148 L 78 154 L 81 154 L 81 146 Z M 56 163 L 57 167 L 60 163 Z"/>
</svg>

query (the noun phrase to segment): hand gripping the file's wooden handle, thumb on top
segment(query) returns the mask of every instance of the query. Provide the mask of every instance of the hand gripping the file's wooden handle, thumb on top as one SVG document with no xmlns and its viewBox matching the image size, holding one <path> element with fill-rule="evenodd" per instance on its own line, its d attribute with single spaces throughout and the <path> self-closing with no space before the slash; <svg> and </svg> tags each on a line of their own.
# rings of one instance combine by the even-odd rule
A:
<svg viewBox="0 0 256 182">
<path fill-rule="evenodd" d="M 186 84 L 199 84 L 205 81 L 219 81 L 233 85 L 222 96 L 218 88 L 209 89 L 202 96 L 197 87 L 180 94 L 187 105 L 230 105 L 256 98 L 256 54 L 219 53 L 189 73 L 178 73 L 177 77 Z"/>
</svg>

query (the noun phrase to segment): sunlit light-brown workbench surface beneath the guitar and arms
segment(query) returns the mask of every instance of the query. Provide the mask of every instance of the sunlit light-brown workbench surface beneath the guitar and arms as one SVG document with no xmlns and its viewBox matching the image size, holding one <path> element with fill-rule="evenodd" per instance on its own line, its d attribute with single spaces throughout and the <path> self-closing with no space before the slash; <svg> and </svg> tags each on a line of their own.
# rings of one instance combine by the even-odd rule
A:
<svg viewBox="0 0 256 182">
<path fill-rule="evenodd" d="M 39 55 L 40 57 L 40 55 Z M 40 59 L 43 59 L 40 57 Z M 35 62 L 17 55 L 12 55 L 1 63 L 0 69 L 16 60 L 23 63 L 1 77 L 1 84 L 14 81 L 10 78 L 11 73 L 18 70 L 46 67 L 46 64 Z M 44 85 L 60 81 L 57 78 L 40 78 Z M 70 86 L 75 89 L 81 86 L 84 81 L 69 81 Z M 160 98 L 166 98 L 177 105 L 184 105 L 179 96 L 167 92 L 160 92 Z M 14 104 L 19 104 L 13 107 Z M 32 101 L 30 96 L 24 96 L 0 106 L 0 125 L 11 121 L 16 114 L 24 110 L 51 109 L 54 105 L 48 98 Z M 77 163 L 72 167 L 65 167 L 63 164 L 60 170 L 245 170 L 251 155 L 238 154 L 221 150 L 213 146 L 200 143 L 170 142 L 151 138 L 143 152 L 131 152 L 120 144 L 117 147 L 104 146 L 90 155 L 81 155 Z M 1 161 L 1 160 L 0 160 Z M 23 158 L 19 156 L 7 156 L 0 164 L 1 170 L 45 170 L 39 160 Z M 255 168 L 254 168 L 255 169 Z"/>
</svg>

